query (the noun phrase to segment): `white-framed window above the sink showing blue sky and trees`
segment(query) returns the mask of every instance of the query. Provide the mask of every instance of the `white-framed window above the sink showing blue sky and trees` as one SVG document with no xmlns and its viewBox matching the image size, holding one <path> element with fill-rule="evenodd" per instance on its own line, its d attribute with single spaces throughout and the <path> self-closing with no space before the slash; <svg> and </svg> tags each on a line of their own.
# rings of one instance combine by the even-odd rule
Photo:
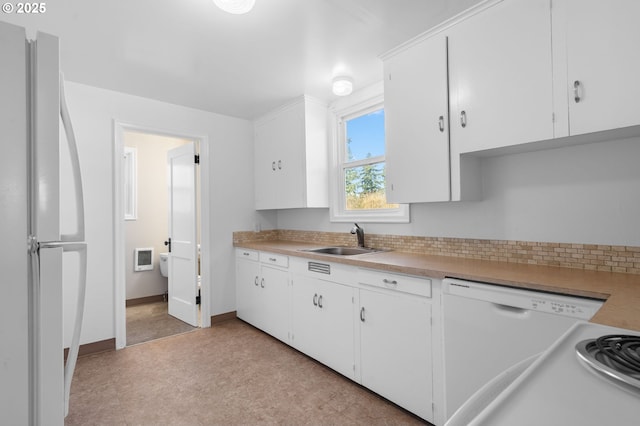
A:
<svg viewBox="0 0 640 426">
<path fill-rule="evenodd" d="M 335 120 L 331 220 L 408 222 L 408 206 L 388 204 L 385 197 L 381 99 L 337 111 Z"/>
</svg>

